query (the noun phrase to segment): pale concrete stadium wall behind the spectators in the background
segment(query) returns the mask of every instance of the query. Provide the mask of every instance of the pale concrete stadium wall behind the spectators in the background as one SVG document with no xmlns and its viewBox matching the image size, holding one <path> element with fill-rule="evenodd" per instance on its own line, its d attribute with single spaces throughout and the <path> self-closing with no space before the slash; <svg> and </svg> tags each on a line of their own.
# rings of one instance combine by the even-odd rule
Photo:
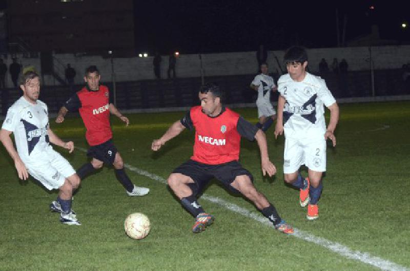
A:
<svg viewBox="0 0 410 271">
<path fill-rule="evenodd" d="M 275 57 L 281 63 L 284 51 L 269 51 L 268 63 L 270 72 L 280 71 Z M 350 71 L 370 70 L 370 58 L 372 56 L 374 69 L 399 69 L 404 63 L 410 62 L 410 46 L 380 46 L 380 47 L 343 47 L 308 49 L 309 67 L 312 72 L 318 70 L 318 64 L 325 58 L 331 66 L 333 58 L 340 62 L 346 59 Z M 201 57 L 200 57 L 201 56 Z M 58 63 L 70 63 L 77 72 L 75 83 L 83 82 L 84 70 L 87 66 L 97 65 L 101 72 L 102 81 L 111 81 L 112 67 L 116 81 L 136 81 L 154 79 L 153 57 L 110 58 L 100 56 L 74 56 L 73 54 L 54 54 Z M 34 65 L 41 73 L 39 58 L 23 58 L 17 55 L 18 62 L 22 66 Z M 256 52 L 233 52 L 217 54 L 181 54 L 177 58 L 177 77 L 200 77 L 201 60 L 203 76 L 244 75 L 257 72 Z M 56 62 L 57 62 L 56 61 Z M 11 56 L 5 59 L 7 66 L 12 62 Z M 59 74 L 64 78 L 63 66 L 60 64 Z M 282 69 L 284 70 L 282 65 Z M 168 56 L 162 56 L 161 78 L 167 77 Z M 58 84 L 51 76 L 46 76 L 45 84 Z M 7 86 L 11 87 L 10 74 L 7 73 Z"/>
</svg>

